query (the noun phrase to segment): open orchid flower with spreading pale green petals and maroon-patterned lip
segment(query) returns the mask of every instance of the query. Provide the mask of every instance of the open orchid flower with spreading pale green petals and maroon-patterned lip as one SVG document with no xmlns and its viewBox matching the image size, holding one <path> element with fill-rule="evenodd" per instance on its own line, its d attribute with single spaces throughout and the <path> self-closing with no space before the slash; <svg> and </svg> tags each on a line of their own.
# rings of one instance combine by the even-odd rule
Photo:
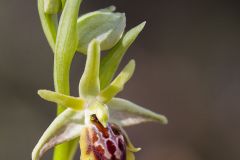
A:
<svg viewBox="0 0 240 160">
<path fill-rule="evenodd" d="M 139 149 L 133 147 L 122 127 L 147 121 L 167 123 L 163 115 L 128 100 L 115 98 L 132 77 L 135 70 L 134 60 L 131 60 L 109 85 L 101 89 L 100 52 L 100 42 L 92 40 L 79 83 L 79 97 L 48 90 L 38 91 L 43 99 L 68 109 L 57 116 L 44 132 L 33 150 L 33 160 L 39 160 L 47 150 L 77 137 L 80 137 L 82 160 L 133 160 L 133 153 Z"/>
</svg>

